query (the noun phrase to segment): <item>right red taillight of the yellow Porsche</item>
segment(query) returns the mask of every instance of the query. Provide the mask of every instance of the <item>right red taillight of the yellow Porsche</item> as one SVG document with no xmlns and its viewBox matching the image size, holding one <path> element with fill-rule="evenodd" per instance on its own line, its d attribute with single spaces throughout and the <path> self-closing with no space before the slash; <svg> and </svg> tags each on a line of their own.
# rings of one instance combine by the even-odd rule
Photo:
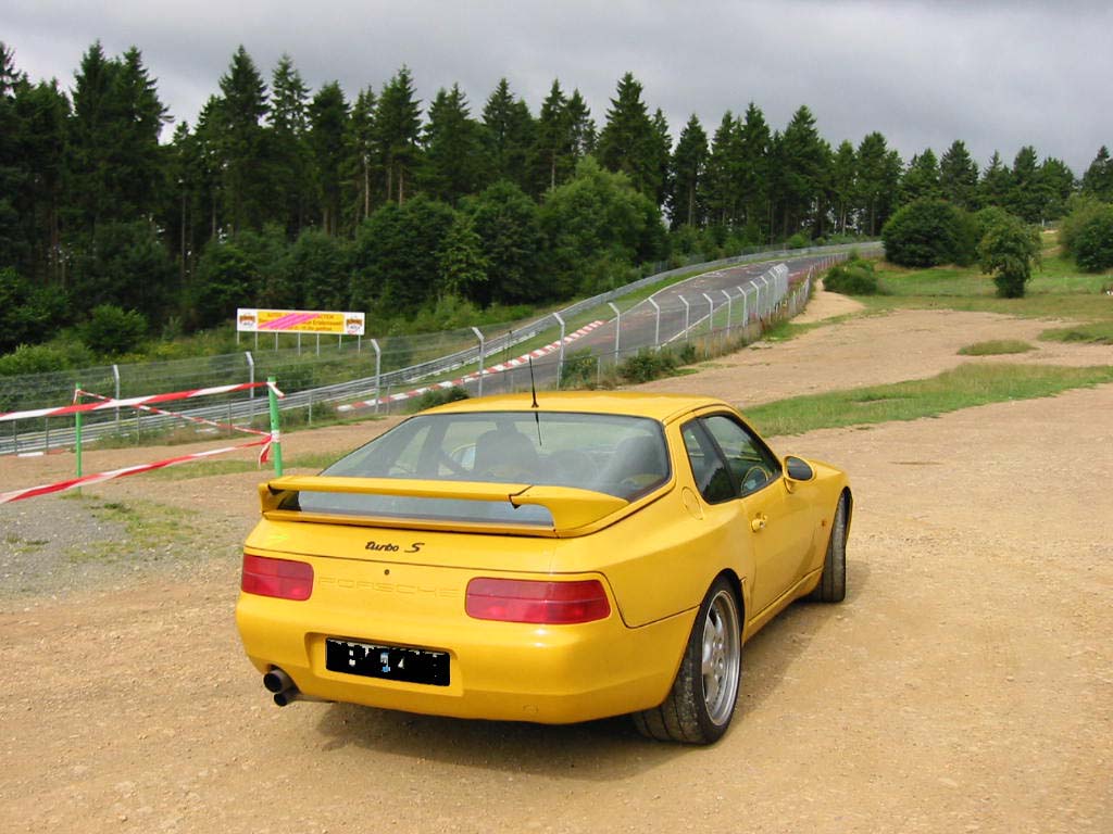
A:
<svg viewBox="0 0 1113 834">
<path fill-rule="evenodd" d="M 604 619 L 611 613 L 599 579 L 534 582 L 481 577 L 467 583 L 467 615 L 506 623 L 570 625 Z"/>
</svg>

